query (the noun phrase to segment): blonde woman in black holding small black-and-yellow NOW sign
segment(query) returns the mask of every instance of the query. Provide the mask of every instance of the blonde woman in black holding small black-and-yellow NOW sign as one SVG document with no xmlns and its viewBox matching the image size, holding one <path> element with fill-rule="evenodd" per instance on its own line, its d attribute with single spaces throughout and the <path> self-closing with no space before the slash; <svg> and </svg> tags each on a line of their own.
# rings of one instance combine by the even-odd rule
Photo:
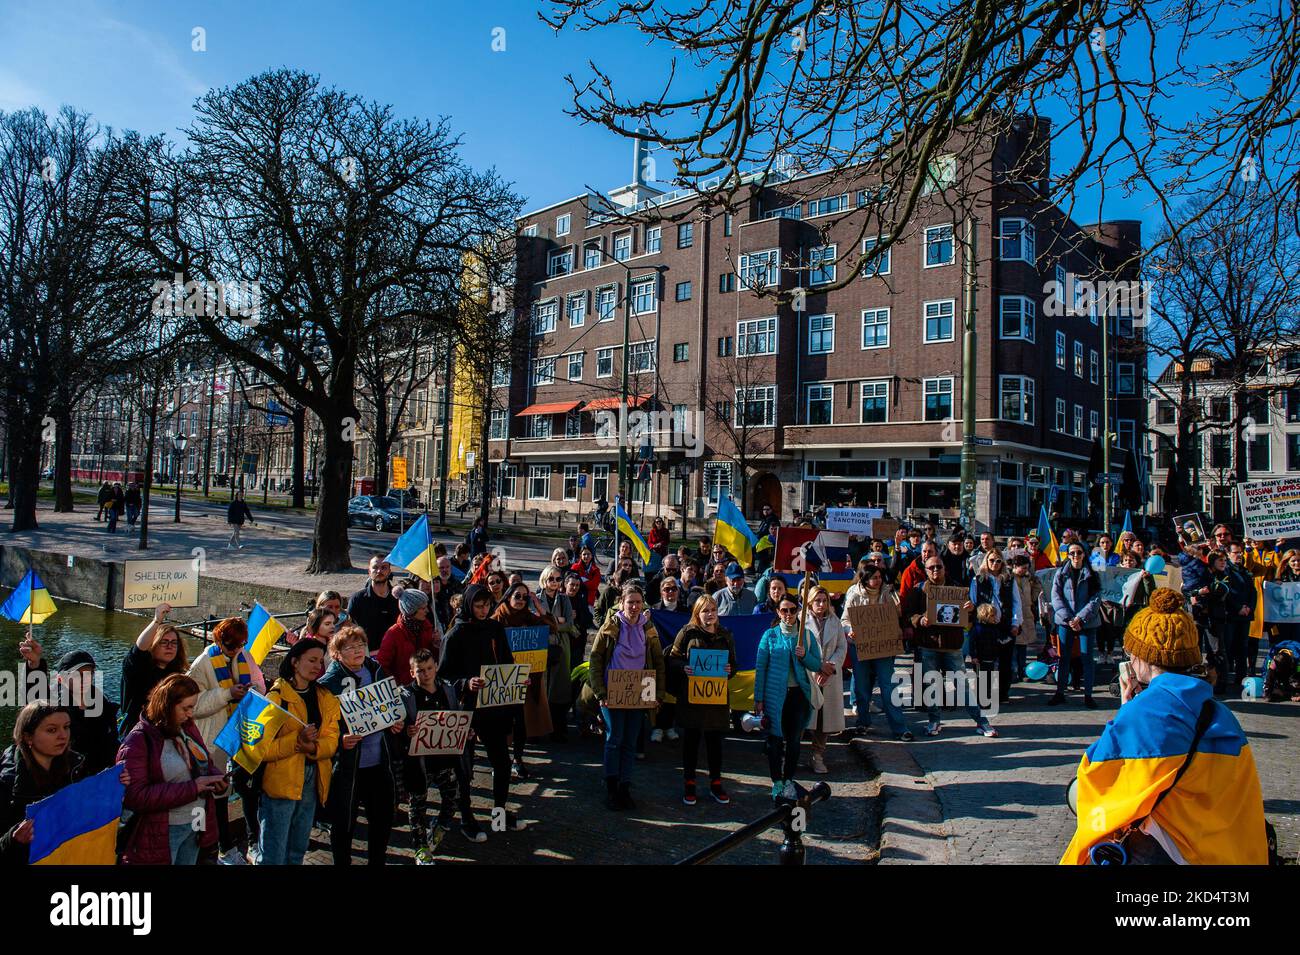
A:
<svg viewBox="0 0 1300 955">
<path fill-rule="evenodd" d="M 694 650 L 722 651 L 727 655 L 727 663 L 719 674 L 724 682 L 723 694 L 718 703 L 690 702 L 686 681 L 697 676 L 690 667 L 690 655 Z M 732 638 L 731 630 L 719 625 L 718 602 L 707 594 L 696 600 L 696 605 L 690 609 L 690 622 L 677 633 L 666 663 L 670 670 L 675 672 L 675 682 L 684 689 L 684 693 L 677 694 L 677 721 L 685 730 L 681 742 L 681 772 L 685 777 L 686 791 L 681 796 L 681 802 L 686 806 L 694 806 L 697 802 L 696 760 L 699 756 L 699 741 L 703 739 L 705 754 L 708 759 L 708 795 L 714 798 L 714 802 L 725 806 L 731 802 L 731 796 L 723 789 L 723 734 L 731 724 L 725 678 L 736 672 L 736 641 Z M 680 680 L 676 673 L 686 680 Z M 708 678 L 702 673 L 698 676 Z"/>
</svg>

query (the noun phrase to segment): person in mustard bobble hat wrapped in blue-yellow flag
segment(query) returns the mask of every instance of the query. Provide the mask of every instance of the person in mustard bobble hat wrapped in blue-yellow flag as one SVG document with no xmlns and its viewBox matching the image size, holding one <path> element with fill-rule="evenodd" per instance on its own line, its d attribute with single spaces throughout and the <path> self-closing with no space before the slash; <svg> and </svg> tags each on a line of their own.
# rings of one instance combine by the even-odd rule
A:
<svg viewBox="0 0 1300 955">
<path fill-rule="evenodd" d="M 1078 830 L 1062 865 L 1087 865 L 1091 850 L 1147 833 L 1176 864 L 1264 865 L 1268 839 L 1254 756 L 1231 711 L 1213 719 L 1182 778 L 1197 717 L 1213 687 L 1200 635 L 1183 598 L 1161 587 L 1124 631 L 1131 676 L 1115 719 L 1079 763 Z M 1161 793 L 1169 793 L 1156 800 Z"/>
</svg>

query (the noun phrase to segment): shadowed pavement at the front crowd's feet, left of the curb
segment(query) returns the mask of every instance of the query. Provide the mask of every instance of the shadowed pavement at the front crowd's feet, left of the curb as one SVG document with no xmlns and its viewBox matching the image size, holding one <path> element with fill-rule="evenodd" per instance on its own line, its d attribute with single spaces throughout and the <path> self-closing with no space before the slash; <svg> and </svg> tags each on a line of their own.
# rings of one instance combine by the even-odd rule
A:
<svg viewBox="0 0 1300 955">
<path fill-rule="evenodd" d="M 668 864 L 718 841 L 772 808 L 771 780 L 762 742 L 757 735 L 729 735 L 723 742 L 723 774 L 732 796 L 729 806 L 718 806 L 701 789 L 694 807 L 681 803 L 681 743 L 650 743 L 645 761 L 638 761 L 632 795 L 637 808 L 612 812 L 604 808 L 604 780 L 597 739 L 529 746 L 525 760 L 532 778 L 511 785 L 511 808 L 528 828 L 520 833 L 488 833 L 484 843 L 471 843 L 459 825 L 447 834 L 437 864 L 520 863 L 581 864 Z M 701 759 L 703 759 L 701 747 Z M 809 747 L 803 746 L 805 756 Z M 863 761 L 846 738 L 832 742 L 824 777 L 801 776 L 801 783 L 814 778 L 831 783 L 832 798 L 812 807 L 805 834 L 807 864 L 861 864 L 875 860 L 876 787 L 867 778 Z M 701 773 L 701 785 L 707 773 Z M 437 803 L 438 794 L 430 791 Z M 491 776 L 478 752 L 474 774 L 474 811 L 485 826 L 491 806 Z M 398 813 L 404 822 L 404 813 Z M 459 821 L 459 820 L 458 820 Z M 316 830 L 307 863 L 329 865 L 328 843 Z M 365 859 L 364 825 L 354 841 L 354 864 Z M 774 864 L 781 843 L 781 829 L 768 829 L 722 860 L 736 864 Z M 389 848 L 390 864 L 411 864 L 410 832 L 400 825 Z"/>
</svg>

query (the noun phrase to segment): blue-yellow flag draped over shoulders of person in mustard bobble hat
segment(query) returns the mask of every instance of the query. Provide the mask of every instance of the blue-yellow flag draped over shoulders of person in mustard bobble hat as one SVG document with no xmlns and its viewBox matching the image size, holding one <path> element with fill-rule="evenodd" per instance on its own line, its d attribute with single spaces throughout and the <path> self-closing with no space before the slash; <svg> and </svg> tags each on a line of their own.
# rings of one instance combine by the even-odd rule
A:
<svg viewBox="0 0 1300 955">
<path fill-rule="evenodd" d="M 1062 865 L 1150 815 L 1192 865 L 1265 865 L 1264 796 L 1240 724 L 1221 703 L 1174 786 L 1213 689 L 1197 677 L 1161 673 L 1119 707 L 1079 763 L 1078 830 Z M 1173 786 L 1173 789 L 1170 789 Z M 1154 812 L 1157 796 L 1169 790 Z"/>
</svg>

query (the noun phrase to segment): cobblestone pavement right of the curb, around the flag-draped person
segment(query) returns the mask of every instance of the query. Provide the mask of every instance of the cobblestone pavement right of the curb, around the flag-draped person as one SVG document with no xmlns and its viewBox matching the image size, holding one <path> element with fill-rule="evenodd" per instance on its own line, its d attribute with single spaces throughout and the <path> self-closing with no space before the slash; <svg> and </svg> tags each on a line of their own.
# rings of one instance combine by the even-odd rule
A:
<svg viewBox="0 0 1300 955">
<path fill-rule="evenodd" d="M 914 743 L 872 742 L 872 760 L 883 763 L 880 747 L 888 747 L 889 763 L 914 760 L 939 799 L 945 858 L 952 863 L 1056 863 L 1074 833 L 1074 816 L 1065 804 L 1066 787 L 1083 751 L 1101 734 L 1118 709 L 1119 700 L 1104 685 L 1096 694 L 1098 709 L 1086 709 L 1080 694 L 1060 707 L 1048 707 L 1050 690 L 1041 685 L 1017 685 L 1013 696 L 994 717 L 1000 737 L 978 735 L 959 711 L 946 711 L 941 735 L 922 734 L 924 717 L 914 720 Z M 1227 700 L 1245 730 L 1258 767 L 1265 815 L 1278 830 L 1283 856 L 1296 859 L 1300 850 L 1300 704 Z M 884 767 L 881 767 L 884 769 Z M 888 828 L 892 800 L 885 803 Z M 910 812 L 910 811 L 909 811 Z M 920 820 L 918 820 L 920 821 Z M 936 859 L 931 859 L 932 861 Z M 906 861 L 906 859 L 898 859 Z"/>
</svg>

